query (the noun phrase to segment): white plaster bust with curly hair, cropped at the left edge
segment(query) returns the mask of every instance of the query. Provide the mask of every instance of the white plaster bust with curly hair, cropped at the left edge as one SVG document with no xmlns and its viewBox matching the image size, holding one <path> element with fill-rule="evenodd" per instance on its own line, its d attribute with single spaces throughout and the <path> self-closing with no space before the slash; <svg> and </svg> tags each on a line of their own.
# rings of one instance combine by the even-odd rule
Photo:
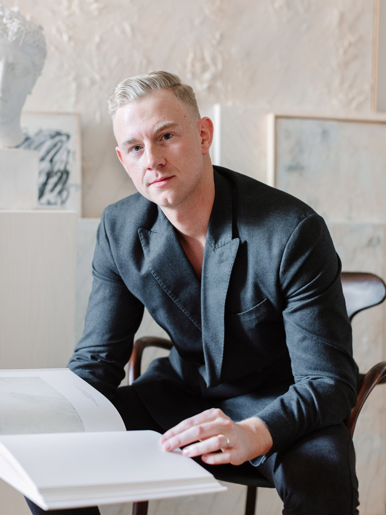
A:
<svg viewBox="0 0 386 515">
<path fill-rule="evenodd" d="M 23 141 L 20 115 L 46 57 L 43 28 L 0 4 L 0 148 Z"/>
</svg>

